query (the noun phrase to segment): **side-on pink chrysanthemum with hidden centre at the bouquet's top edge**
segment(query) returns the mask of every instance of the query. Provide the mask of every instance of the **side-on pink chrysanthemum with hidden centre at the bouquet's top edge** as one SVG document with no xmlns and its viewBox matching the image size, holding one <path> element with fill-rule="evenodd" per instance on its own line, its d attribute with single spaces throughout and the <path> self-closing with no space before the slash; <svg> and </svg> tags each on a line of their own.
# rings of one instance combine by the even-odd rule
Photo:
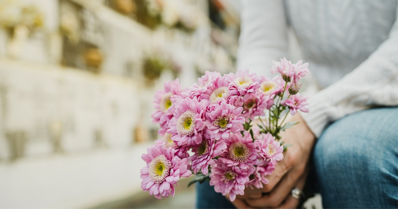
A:
<svg viewBox="0 0 398 209">
<path fill-rule="evenodd" d="M 201 94 L 205 93 L 208 88 L 215 86 L 219 78 L 221 78 L 220 73 L 206 71 L 204 76 L 198 78 L 198 84 L 194 84 L 190 88 L 189 97 L 197 97 L 200 99 Z"/>
</svg>

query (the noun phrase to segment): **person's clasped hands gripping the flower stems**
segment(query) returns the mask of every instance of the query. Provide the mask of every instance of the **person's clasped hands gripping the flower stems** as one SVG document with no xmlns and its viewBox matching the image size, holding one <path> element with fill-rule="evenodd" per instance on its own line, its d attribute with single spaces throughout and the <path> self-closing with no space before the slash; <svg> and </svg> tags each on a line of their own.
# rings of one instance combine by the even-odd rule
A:
<svg viewBox="0 0 398 209">
<path fill-rule="evenodd" d="M 295 187 L 301 190 L 304 187 L 315 136 L 299 114 L 290 120 L 299 123 L 286 132 L 281 132 L 281 141 L 292 146 L 284 153 L 283 161 L 278 162 L 273 174 L 268 177 L 270 183 L 263 185 L 262 189 L 245 189 L 245 195 L 237 196 L 232 202 L 236 208 L 297 208 L 299 201 L 291 195 L 291 192 Z"/>
</svg>

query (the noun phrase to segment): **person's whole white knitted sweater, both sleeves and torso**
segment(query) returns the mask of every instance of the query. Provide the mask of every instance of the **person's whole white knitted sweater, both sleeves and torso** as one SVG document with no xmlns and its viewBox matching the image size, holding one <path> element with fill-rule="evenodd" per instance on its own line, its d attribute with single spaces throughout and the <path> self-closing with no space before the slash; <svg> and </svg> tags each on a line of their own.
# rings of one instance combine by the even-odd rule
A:
<svg viewBox="0 0 398 209">
<path fill-rule="evenodd" d="M 323 90 L 300 113 L 319 137 L 325 126 L 375 105 L 398 105 L 397 0 L 242 0 L 238 69 L 272 76 L 293 28 Z M 288 58 L 288 57 L 287 57 Z M 288 58 L 289 59 L 289 58 Z"/>
</svg>

